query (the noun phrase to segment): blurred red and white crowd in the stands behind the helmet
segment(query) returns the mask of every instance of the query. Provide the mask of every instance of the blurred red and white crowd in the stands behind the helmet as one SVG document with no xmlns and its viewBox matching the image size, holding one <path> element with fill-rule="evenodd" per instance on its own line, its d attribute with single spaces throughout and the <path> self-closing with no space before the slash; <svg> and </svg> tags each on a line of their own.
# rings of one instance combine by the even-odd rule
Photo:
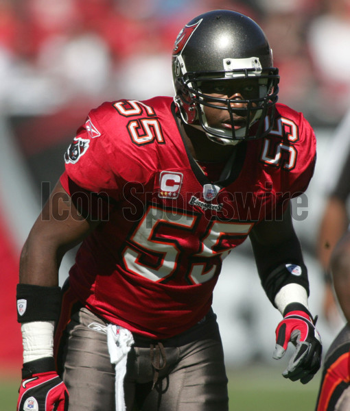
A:
<svg viewBox="0 0 350 411">
<path fill-rule="evenodd" d="M 1 110 L 43 114 L 172 95 L 180 27 L 220 8 L 263 27 L 280 101 L 319 123 L 340 119 L 350 103 L 350 0 L 0 0 Z"/>
</svg>

